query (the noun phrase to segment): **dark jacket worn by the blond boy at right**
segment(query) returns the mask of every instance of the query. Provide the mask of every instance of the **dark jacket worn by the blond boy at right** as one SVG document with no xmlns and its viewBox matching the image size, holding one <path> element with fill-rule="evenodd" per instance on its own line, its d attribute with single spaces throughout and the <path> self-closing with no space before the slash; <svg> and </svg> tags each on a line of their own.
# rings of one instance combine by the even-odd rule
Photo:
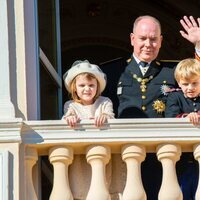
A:
<svg viewBox="0 0 200 200">
<path fill-rule="evenodd" d="M 181 117 L 198 111 L 200 112 L 200 97 L 186 98 L 182 91 L 169 94 L 165 117 Z"/>
</svg>

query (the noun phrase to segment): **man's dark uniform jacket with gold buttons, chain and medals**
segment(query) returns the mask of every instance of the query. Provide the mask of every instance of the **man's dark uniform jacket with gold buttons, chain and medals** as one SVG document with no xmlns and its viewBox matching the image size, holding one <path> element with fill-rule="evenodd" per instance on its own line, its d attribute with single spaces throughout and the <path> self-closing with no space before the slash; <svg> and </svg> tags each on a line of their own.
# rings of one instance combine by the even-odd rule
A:
<svg viewBox="0 0 200 200">
<path fill-rule="evenodd" d="M 118 117 L 164 117 L 167 98 L 164 89 L 177 87 L 174 79 L 175 65 L 152 61 L 143 76 L 137 62 L 132 58 L 118 82 Z"/>
</svg>

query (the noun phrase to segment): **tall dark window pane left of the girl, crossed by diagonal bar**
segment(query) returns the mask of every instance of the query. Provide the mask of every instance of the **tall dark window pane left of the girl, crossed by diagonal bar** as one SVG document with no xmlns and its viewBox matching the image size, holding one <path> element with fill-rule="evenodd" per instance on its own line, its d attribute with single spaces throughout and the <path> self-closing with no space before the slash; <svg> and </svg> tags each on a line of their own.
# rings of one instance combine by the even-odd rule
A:
<svg viewBox="0 0 200 200">
<path fill-rule="evenodd" d="M 40 118 L 60 119 L 62 79 L 59 1 L 38 0 Z"/>
</svg>

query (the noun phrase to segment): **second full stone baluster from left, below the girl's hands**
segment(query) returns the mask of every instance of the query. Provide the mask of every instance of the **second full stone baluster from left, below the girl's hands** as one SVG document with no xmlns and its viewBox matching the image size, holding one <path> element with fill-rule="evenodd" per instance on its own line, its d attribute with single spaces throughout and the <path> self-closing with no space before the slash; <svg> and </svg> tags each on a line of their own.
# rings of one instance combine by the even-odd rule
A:
<svg viewBox="0 0 200 200">
<path fill-rule="evenodd" d="M 92 168 L 92 177 L 86 200 L 110 200 L 105 173 L 105 166 L 110 157 L 108 146 L 91 145 L 87 148 L 86 158 Z"/>
</svg>

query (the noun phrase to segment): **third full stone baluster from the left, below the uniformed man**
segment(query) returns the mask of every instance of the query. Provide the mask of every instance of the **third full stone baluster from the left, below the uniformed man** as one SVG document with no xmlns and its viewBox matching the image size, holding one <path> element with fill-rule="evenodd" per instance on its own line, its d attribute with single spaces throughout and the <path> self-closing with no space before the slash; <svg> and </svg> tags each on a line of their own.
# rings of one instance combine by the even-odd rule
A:
<svg viewBox="0 0 200 200">
<path fill-rule="evenodd" d="M 122 148 L 122 159 L 127 166 L 127 179 L 123 191 L 123 200 L 146 200 L 146 193 L 141 179 L 141 162 L 146 157 L 141 145 L 127 144 Z"/>
</svg>

